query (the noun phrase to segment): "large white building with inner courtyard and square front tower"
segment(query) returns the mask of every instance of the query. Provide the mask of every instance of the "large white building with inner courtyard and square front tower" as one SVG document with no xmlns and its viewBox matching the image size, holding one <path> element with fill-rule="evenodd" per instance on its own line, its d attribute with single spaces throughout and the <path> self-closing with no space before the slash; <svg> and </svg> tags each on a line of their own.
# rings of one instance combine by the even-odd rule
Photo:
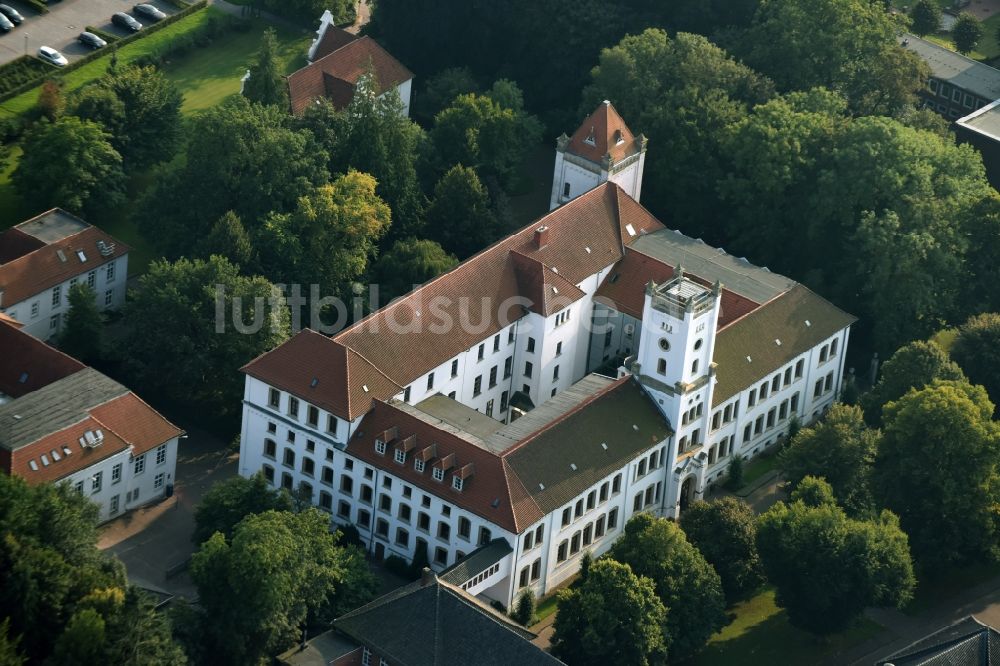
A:
<svg viewBox="0 0 1000 666">
<path fill-rule="evenodd" d="M 853 321 L 595 183 L 338 335 L 247 364 L 240 473 L 510 604 L 822 414 Z"/>
</svg>

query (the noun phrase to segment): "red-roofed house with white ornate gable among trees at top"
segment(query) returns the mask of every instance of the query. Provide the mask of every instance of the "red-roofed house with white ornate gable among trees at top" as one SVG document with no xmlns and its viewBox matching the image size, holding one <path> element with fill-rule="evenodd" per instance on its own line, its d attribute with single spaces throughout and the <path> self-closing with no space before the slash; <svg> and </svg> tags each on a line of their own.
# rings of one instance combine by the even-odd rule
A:
<svg viewBox="0 0 1000 666">
<path fill-rule="evenodd" d="M 396 89 L 403 103 L 401 113 L 409 116 L 413 72 L 371 37 L 359 37 L 333 25 L 329 14 L 323 14 L 317 37 L 309 47 L 309 64 L 286 77 L 292 113 L 301 114 L 324 97 L 336 108 L 346 108 L 358 81 L 371 70 L 380 91 Z"/>
</svg>

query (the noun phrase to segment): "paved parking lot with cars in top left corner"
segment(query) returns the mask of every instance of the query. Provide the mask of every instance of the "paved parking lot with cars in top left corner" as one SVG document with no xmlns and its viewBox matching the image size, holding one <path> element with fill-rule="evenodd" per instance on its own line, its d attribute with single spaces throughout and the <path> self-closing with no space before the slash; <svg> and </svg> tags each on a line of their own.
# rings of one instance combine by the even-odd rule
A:
<svg viewBox="0 0 1000 666">
<path fill-rule="evenodd" d="M 165 14 L 177 13 L 177 8 L 163 0 L 145 0 Z M 76 41 L 77 35 L 91 25 L 113 35 L 127 36 L 128 32 L 111 25 L 111 15 L 115 12 L 132 14 L 140 0 L 62 0 L 49 4 L 48 14 L 37 14 L 30 6 L 18 0 L 0 0 L 10 5 L 24 17 L 24 23 L 7 34 L 0 33 L 0 64 L 10 62 L 19 56 L 38 53 L 39 46 L 51 46 L 61 51 L 73 62 L 90 49 Z M 133 14 L 134 15 L 134 14 Z M 143 28 L 149 21 L 137 17 Z"/>
</svg>

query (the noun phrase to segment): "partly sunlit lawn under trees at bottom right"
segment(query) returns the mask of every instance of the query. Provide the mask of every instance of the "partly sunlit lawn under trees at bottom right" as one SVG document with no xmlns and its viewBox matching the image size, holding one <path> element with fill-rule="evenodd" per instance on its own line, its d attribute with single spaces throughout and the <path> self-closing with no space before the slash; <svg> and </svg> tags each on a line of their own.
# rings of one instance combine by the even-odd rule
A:
<svg viewBox="0 0 1000 666">
<path fill-rule="evenodd" d="M 796 629 L 766 590 L 730 609 L 735 616 L 692 660 L 696 666 L 815 664 L 876 635 L 882 627 L 863 618 L 851 629 L 825 639 Z"/>
</svg>

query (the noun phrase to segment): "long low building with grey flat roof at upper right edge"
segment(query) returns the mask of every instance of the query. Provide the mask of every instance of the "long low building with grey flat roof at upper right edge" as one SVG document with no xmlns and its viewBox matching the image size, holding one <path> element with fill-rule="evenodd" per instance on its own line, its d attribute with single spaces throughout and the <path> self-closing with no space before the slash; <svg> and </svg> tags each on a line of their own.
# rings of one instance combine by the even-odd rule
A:
<svg viewBox="0 0 1000 666">
<path fill-rule="evenodd" d="M 1000 70 L 916 35 L 903 35 L 900 45 L 920 56 L 931 68 L 924 106 L 948 120 L 957 120 L 1000 99 Z"/>
</svg>

